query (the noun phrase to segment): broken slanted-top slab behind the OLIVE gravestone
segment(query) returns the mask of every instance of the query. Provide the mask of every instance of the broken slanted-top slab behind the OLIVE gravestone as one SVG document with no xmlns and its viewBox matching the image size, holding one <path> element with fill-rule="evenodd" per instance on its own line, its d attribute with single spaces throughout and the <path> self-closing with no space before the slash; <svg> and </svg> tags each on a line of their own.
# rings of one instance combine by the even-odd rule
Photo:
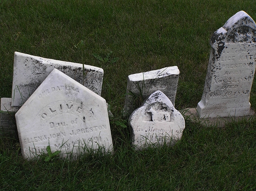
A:
<svg viewBox="0 0 256 191">
<path fill-rule="evenodd" d="M 54 68 L 101 95 L 103 69 L 15 52 L 12 106 L 22 106 Z"/>
</svg>

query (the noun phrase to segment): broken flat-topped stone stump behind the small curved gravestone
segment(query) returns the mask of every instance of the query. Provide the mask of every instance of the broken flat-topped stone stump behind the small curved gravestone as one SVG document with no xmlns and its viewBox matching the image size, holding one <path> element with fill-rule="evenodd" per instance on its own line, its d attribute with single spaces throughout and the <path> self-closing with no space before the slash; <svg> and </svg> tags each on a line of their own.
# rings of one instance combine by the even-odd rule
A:
<svg viewBox="0 0 256 191">
<path fill-rule="evenodd" d="M 124 113 L 131 114 L 140 97 L 143 101 L 153 92 L 162 91 L 174 104 L 180 71 L 177 66 L 142 72 L 128 76 Z"/>
</svg>

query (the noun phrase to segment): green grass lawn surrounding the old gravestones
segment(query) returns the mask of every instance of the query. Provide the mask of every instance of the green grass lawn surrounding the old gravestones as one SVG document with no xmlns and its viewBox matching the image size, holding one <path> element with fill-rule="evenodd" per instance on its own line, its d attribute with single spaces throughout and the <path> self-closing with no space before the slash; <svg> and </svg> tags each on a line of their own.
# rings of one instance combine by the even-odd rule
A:
<svg viewBox="0 0 256 191">
<path fill-rule="evenodd" d="M 255 190 L 256 120 L 204 128 L 186 122 L 174 147 L 135 152 L 122 124 L 127 77 L 177 65 L 178 110 L 202 96 L 214 31 L 236 12 L 256 20 L 254 0 L 0 0 L 0 97 L 11 97 L 14 51 L 104 69 L 114 154 L 24 161 L 0 138 L 2 190 Z M 96 59 L 94 55 L 113 63 Z M 253 84 L 252 108 L 256 107 Z"/>
</svg>

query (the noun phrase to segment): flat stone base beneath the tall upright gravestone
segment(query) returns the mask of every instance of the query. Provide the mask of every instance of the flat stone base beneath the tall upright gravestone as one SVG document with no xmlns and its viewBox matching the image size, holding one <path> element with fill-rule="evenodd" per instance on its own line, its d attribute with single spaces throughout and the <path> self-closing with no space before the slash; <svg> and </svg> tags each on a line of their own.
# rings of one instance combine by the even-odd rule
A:
<svg viewBox="0 0 256 191">
<path fill-rule="evenodd" d="M 249 119 L 255 115 L 255 111 L 250 108 L 248 116 L 239 116 L 239 117 L 217 117 L 217 118 L 200 118 L 196 108 L 186 108 L 181 111 L 185 120 L 190 120 L 195 123 L 200 123 L 203 126 L 217 126 L 224 127 L 229 122 L 236 122 L 242 119 Z"/>
</svg>

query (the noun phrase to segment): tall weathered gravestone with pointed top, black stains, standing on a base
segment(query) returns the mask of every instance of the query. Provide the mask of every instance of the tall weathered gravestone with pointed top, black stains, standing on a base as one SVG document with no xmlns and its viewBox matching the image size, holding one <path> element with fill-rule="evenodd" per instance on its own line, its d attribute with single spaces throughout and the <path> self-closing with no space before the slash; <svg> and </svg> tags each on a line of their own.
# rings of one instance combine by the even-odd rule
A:
<svg viewBox="0 0 256 191">
<path fill-rule="evenodd" d="M 247 116 L 255 73 L 256 25 L 244 11 L 232 16 L 211 37 L 201 118 Z"/>
</svg>

